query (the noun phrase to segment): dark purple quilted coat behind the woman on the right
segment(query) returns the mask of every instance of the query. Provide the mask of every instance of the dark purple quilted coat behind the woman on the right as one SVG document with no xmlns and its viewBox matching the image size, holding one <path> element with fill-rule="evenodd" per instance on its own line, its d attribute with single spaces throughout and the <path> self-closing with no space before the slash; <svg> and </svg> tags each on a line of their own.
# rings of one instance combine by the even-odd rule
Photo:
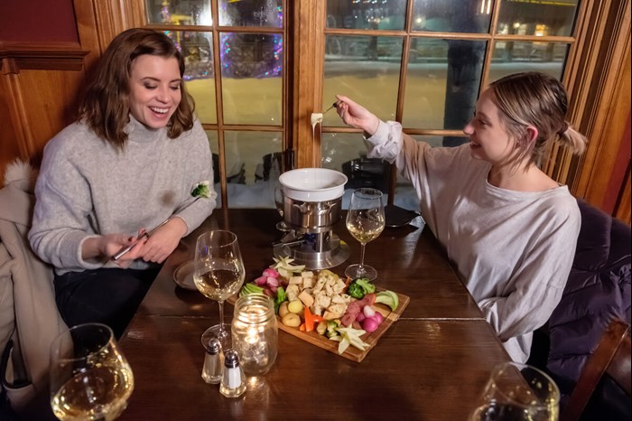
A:
<svg viewBox="0 0 632 421">
<path fill-rule="evenodd" d="M 578 200 L 581 230 L 562 301 L 548 323 L 547 369 L 574 385 L 612 318 L 630 323 L 630 228 Z"/>
</svg>

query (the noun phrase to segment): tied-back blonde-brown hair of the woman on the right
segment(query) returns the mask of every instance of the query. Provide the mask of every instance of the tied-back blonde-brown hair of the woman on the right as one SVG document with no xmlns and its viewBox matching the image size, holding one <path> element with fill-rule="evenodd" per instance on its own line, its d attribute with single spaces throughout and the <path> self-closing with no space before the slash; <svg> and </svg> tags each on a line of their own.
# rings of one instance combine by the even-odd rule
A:
<svg viewBox="0 0 632 421">
<path fill-rule="evenodd" d="M 528 158 L 528 164 L 541 165 L 544 156 L 559 142 L 574 154 L 586 147 L 586 137 L 566 121 L 566 89 L 553 76 L 538 71 L 508 75 L 489 84 L 492 99 L 500 109 L 500 119 L 516 140 L 515 164 Z M 528 142 L 526 127 L 537 128 L 538 137 Z"/>
</svg>

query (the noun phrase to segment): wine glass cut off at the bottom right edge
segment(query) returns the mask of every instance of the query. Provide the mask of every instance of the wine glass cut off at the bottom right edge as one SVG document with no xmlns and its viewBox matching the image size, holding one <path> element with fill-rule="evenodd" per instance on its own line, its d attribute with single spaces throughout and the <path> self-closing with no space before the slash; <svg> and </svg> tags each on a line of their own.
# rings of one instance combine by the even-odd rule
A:
<svg viewBox="0 0 632 421">
<path fill-rule="evenodd" d="M 557 421 L 560 390 L 544 371 L 517 362 L 492 370 L 470 421 Z"/>
</svg>

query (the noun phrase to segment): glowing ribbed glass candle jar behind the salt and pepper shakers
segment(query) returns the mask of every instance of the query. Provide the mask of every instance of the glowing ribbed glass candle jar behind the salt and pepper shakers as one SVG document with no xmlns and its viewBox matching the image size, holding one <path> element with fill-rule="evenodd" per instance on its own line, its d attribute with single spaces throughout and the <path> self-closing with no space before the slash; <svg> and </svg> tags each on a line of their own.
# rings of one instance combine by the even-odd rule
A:
<svg viewBox="0 0 632 421">
<path fill-rule="evenodd" d="M 274 302 L 263 294 L 241 296 L 231 324 L 233 348 L 246 374 L 265 374 L 276 360 L 279 331 Z"/>
</svg>

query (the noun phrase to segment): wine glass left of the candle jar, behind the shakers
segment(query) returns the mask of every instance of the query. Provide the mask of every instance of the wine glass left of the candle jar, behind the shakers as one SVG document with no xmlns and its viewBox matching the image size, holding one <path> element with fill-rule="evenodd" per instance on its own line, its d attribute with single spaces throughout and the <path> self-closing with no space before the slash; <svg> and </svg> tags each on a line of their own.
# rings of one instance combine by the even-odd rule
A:
<svg viewBox="0 0 632 421">
<path fill-rule="evenodd" d="M 237 236 L 222 229 L 201 234 L 195 245 L 193 262 L 195 286 L 202 295 L 219 304 L 219 323 L 202 334 L 202 341 L 216 337 L 223 348 L 228 349 L 231 341 L 230 332 L 224 326 L 224 301 L 237 294 L 246 277 Z"/>
</svg>

